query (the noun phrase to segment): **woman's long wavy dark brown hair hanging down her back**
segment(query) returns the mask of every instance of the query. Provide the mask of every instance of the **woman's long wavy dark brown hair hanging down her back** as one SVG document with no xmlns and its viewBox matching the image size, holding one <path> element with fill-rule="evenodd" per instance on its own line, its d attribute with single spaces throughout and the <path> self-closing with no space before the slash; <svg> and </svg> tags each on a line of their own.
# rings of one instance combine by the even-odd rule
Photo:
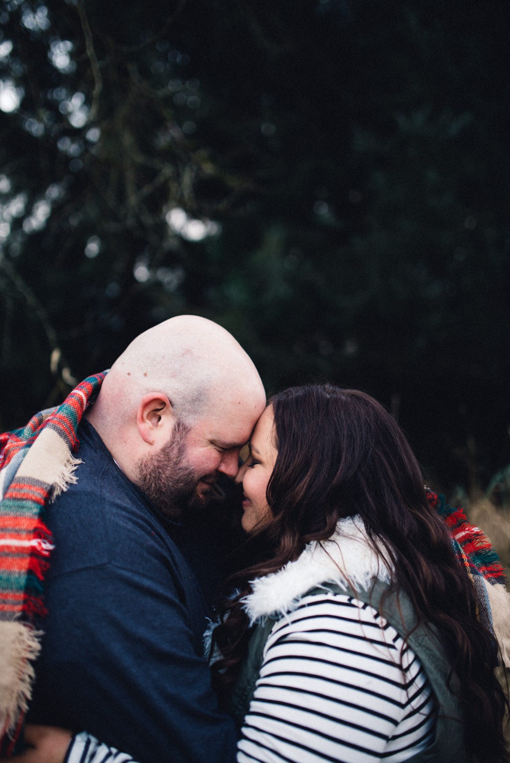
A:
<svg viewBox="0 0 510 763">
<path fill-rule="evenodd" d="M 291 388 L 270 404 L 278 448 L 267 486 L 272 518 L 248 542 L 257 563 L 236 576 L 238 595 L 215 629 L 223 654 L 213 666 L 215 681 L 231 684 L 246 653 L 250 629 L 241 599 L 249 581 L 297 559 L 308 542 L 328 539 L 338 520 L 358 514 L 418 622 L 437 627 L 460 681 L 468 755 L 476 763 L 508 761 L 502 728 L 508 700 L 495 677 L 495 641 L 477 618 L 476 591 L 428 504 L 402 430 L 369 395 L 332 385 Z"/>
</svg>

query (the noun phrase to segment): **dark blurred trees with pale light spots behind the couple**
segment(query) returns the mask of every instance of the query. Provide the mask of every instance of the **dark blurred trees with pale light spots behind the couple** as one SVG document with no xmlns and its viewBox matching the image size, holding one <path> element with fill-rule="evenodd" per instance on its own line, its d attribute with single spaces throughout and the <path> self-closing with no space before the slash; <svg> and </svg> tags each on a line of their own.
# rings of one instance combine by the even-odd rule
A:
<svg viewBox="0 0 510 763">
<path fill-rule="evenodd" d="M 3 0 L 2 430 L 195 313 L 502 513 L 508 73 L 502 0 Z"/>
</svg>

